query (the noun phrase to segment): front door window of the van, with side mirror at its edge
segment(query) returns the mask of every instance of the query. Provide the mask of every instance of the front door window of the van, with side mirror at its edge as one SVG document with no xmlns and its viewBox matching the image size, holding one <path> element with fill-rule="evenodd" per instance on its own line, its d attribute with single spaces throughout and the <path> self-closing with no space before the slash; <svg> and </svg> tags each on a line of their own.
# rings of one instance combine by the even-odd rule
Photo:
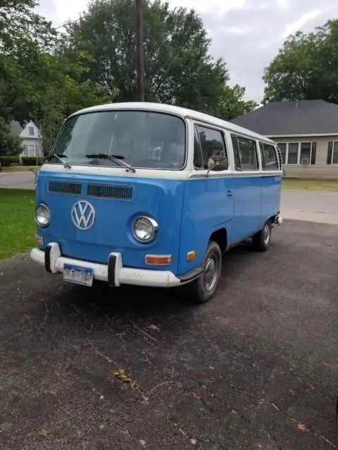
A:
<svg viewBox="0 0 338 450">
<path fill-rule="evenodd" d="M 199 142 L 201 146 L 201 164 L 203 169 L 208 169 L 208 160 L 213 156 L 225 156 L 227 158 L 227 150 L 225 148 L 225 141 L 223 133 L 221 131 L 211 129 L 208 127 L 201 127 L 197 125 L 197 132 L 199 136 Z M 195 148 L 196 148 L 196 135 L 195 135 Z M 195 150 L 194 164 L 196 158 L 196 164 L 198 164 L 198 151 Z M 198 165 L 195 165 L 199 169 Z"/>
</svg>

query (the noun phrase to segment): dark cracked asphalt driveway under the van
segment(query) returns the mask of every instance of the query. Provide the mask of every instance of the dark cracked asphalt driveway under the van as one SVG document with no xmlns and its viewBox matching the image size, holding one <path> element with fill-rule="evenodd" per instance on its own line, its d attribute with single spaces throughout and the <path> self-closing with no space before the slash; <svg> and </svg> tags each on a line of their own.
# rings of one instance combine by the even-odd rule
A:
<svg viewBox="0 0 338 450">
<path fill-rule="evenodd" d="M 225 257 L 213 302 L 0 263 L 0 448 L 338 448 L 338 227 Z"/>
</svg>

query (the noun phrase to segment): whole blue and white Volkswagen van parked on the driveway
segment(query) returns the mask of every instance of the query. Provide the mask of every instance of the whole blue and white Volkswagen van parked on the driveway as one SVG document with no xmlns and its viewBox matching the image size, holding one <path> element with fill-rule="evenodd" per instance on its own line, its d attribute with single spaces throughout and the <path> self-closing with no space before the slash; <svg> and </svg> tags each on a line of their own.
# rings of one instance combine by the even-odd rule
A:
<svg viewBox="0 0 338 450">
<path fill-rule="evenodd" d="M 64 281 L 185 284 L 206 302 L 226 250 L 268 248 L 281 179 L 277 145 L 229 122 L 158 103 L 87 108 L 39 172 L 31 258 Z"/>
</svg>

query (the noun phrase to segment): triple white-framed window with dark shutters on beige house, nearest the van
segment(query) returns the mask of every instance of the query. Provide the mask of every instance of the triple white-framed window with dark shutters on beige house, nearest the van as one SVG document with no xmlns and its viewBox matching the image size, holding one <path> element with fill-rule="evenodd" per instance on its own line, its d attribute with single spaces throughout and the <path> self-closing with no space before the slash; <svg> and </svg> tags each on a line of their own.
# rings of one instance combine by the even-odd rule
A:
<svg viewBox="0 0 338 450">
<path fill-rule="evenodd" d="M 287 142 L 278 143 L 282 153 L 282 162 L 287 164 L 315 164 L 317 143 L 315 142 Z"/>
</svg>

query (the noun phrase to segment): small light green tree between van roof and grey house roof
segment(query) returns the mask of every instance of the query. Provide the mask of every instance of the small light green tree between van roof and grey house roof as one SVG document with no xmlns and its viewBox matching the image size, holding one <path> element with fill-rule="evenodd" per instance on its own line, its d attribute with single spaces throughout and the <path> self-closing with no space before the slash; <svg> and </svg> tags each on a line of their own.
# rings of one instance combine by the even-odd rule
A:
<svg viewBox="0 0 338 450">
<path fill-rule="evenodd" d="M 257 108 L 258 103 L 255 101 L 243 100 L 244 94 L 244 87 L 239 86 L 238 84 L 235 84 L 233 87 L 225 84 L 215 115 L 223 120 L 231 120 L 234 119 L 234 117 L 250 113 L 250 111 Z"/>
</svg>

